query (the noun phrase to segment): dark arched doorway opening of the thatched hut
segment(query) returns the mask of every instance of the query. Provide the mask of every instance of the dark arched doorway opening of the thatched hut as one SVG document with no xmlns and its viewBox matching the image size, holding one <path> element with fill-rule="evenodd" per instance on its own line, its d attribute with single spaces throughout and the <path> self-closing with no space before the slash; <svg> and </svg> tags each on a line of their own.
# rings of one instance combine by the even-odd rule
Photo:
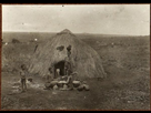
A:
<svg viewBox="0 0 151 113">
<path fill-rule="evenodd" d="M 64 61 L 60 61 L 60 62 L 54 64 L 54 78 L 58 78 L 57 69 L 60 70 L 59 74 L 61 76 L 66 75 L 66 73 L 64 73 L 64 63 L 66 63 Z"/>
</svg>

